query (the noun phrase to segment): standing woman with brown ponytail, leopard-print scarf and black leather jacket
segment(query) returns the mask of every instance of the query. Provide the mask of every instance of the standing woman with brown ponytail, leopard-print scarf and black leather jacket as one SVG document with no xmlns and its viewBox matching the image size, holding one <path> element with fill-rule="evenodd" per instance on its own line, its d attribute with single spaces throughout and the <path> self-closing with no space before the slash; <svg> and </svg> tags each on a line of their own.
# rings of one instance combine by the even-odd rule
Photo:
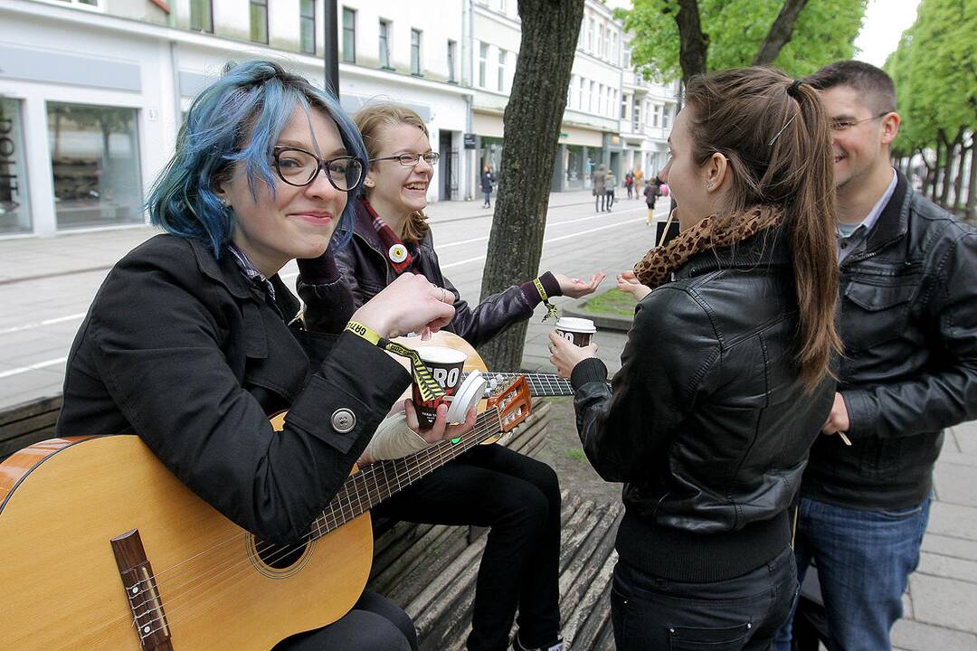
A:
<svg viewBox="0 0 977 651">
<path fill-rule="evenodd" d="M 613 386 L 593 348 L 553 337 L 552 359 L 587 457 L 624 482 L 617 649 L 768 649 L 797 591 L 787 507 L 834 397 L 828 119 L 779 71 L 727 70 L 689 82 L 669 144 L 681 234 L 635 265 L 651 291 Z"/>
</svg>

